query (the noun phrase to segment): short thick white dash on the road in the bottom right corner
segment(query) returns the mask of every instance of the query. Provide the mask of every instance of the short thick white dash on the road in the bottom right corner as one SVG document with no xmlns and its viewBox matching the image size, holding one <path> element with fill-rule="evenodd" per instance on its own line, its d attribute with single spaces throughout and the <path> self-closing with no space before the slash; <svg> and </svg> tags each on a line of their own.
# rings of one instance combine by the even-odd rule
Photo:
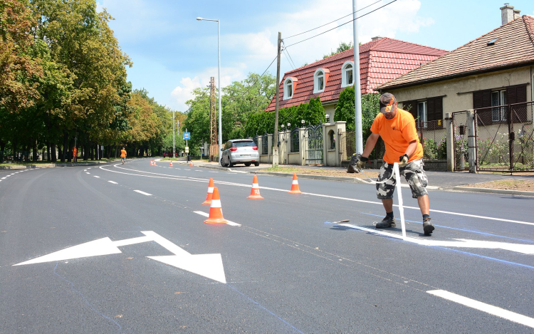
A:
<svg viewBox="0 0 534 334">
<path fill-rule="evenodd" d="M 456 293 L 451 293 L 449 291 L 431 290 L 431 291 L 426 291 L 426 292 L 430 293 L 431 295 L 447 299 L 449 301 L 454 301 L 455 303 L 459 303 L 469 308 L 481 310 L 482 312 L 486 312 L 491 315 L 496 315 L 499 318 L 503 318 L 506 320 L 513 321 L 514 323 L 520 323 L 521 325 L 534 328 L 534 318 L 529 318 L 526 315 L 511 312 L 509 310 L 505 310 L 504 308 L 498 308 L 497 306 L 482 303 L 481 301 L 475 301 L 474 299 L 460 296 L 460 295 L 457 295 Z"/>
</svg>

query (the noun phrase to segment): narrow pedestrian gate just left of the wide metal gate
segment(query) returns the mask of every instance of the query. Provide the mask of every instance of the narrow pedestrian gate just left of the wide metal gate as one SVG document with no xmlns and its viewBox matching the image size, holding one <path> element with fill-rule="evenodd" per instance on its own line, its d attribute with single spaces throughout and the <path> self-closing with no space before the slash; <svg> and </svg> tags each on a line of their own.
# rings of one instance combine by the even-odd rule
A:
<svg viewBox="0 0 534 334">
<path fill-rule="evenodd" d="M 455 172 L 469 170 L 469 150 L 467 145 L 468 111 L 452 113 L 452 127 L 454 145 L 453 167 Z"/>
</svg>

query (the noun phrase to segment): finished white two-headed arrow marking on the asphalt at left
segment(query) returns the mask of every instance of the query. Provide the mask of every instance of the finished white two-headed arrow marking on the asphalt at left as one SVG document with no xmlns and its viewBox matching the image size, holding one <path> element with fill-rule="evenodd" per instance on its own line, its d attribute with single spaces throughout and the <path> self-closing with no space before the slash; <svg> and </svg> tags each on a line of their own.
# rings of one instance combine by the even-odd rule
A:
<svg viewBox="0 0 534 334">
<path fill-rule="evenodd" d="M 145 236 L 137 238 L 111 241 L 109 238 L 102 238 L 79 244 L 76 246 L 62 249 L 36 259 L 14 264 L 14 266 L 23 266 L 26 264 L 44 263 L 53 261 L 63 261 L 70 259 L 80 259 L 90 256 L 100 256 L 108 254 L 122 253 L 118 247 L 132 244 L 140 244 L 147 241 L 155 241 L 160 246 L 167 249 L 174 255 L 167 256 L 147 256 L 147 258 L 159 261 L 169 266 L 174 266 L 185 271 L 196 273 L 197 275 L 211 278 L 214 281 L 226 283 L 224 266 L 221 254 L 189 254 L 171 241 L 165 239 L 154 231 L 141 231 Z"/>
</svg>

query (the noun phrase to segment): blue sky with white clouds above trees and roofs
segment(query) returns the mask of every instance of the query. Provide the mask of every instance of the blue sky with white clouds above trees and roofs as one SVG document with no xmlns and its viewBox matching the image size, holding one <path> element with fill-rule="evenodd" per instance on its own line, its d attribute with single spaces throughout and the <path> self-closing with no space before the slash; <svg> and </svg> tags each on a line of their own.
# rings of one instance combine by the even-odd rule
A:
<svg viewBox="0 0 534 334">
<path fill-rule="evenodd" d="M 504 4 L 391 1 L 357 0 L 358 16 L 369 13 L 357 20 L 360 43 L 382 36 L 451 51 L 501 26 Z M 133 62 L 127 69 L 133 88 L 145 88 L 160 105 L 182 112 L 194 88 L 209 85 L 211 76 L 218 82 L 218 24 L 197 17 L 220 20 L 221 87 L 244 80 L 248 73 L 268 70 L 276 76 L 276 62 L 269 64 L 276 58 L 278 32 L 287 52 L 281 57 L 281 78 L 293 66 L 318 61 L 340 43 L 353 41 L 352 22 L 345 24 L 352 20 L 352 0 L 97 0 L 97 4 L 98 11 L 105 9 L 113 16 L 110 27 Z M 510 5 L 521 15 L 534 16 L 532 0 L 512 0 Z M 340 19 L 343 16 L 347 17 Z M 319 26 L 323 27 L 293 36 Z M 310 38 L 319 33 L 323 34 Z M 310 39 L 303 41 L 306 38 Z"/>
</svg>

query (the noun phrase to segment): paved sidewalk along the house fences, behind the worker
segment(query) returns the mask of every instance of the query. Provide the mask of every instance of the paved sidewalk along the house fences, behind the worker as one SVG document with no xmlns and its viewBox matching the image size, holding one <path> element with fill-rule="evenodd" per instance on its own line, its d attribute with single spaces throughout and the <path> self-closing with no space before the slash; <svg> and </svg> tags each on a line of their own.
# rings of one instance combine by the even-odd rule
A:
<svg viewBox="0 0 534 334">
<path fill-rule="evenodd" d="M 185 158 L 180 158 L 178 160 L 179 164 L 188 165 L 188 162 Z M 271 168 L 271 164 L 261 164 L 258 167 L 250 166 L 246 167 L 244 165 L 236 165 L 234 167 L 221 167 L 217 162 L 205 162 L 203 160 L 193 160 L 195 167 L 204 167 L 210 169 L 224 169 L 231 170 L 232 172 L 245 172 L 245 173 L 257 173 L 257 174 L 272 174 L 276 176 L 292 176 L 293 173 L 280 173 L 280 172 L 267 172 L 264 169 Z M 293 165 L 280 165 L 280 167 L 298 167 L 299 169 L 309 169 L 310 172 L 312 169 L 322 169 L 323 171 L 331 170 L 333 174 L 339 174 L 340 172 L 346 172 L 346 168 L 341 167 L 315 167 L 315 166 L 293 166 Z M 364 172 L 360 174 L 347 174 L 347 177 L 340 177 L 334 175 L 317 175 L 317 174 L 302 174 L 297 173 L 299 178 L 310 178 L 310 179 L 331 179 L 333 181 L 340 182 L 358 182 L 358 183 L 369 183 L 370 178 L 372 180 L 376 179 L 379 169 L 365 169 Z M 426 176 L 429 178 L 429 187 L 430 189 L 444 189 L 449 191 L 463 191 L 463 192 L 489 192 L 496 194 L 512 194 L 512 195 L 524 195 L 524 196 L 534 196 L 534 192 L 520 192 L 516 190 L 507 190 L 507 189 L 485 189 L 485 188 L 471 188 L 471 187 L 462 187 L 466 184 L 477 184 L 505 179 L 525 179 L 525 180 L 534 180 L 533 175 L 503 175 L 503 174 L 471 174 L 468 172 L 433 172 L 426 171 Z"/>
</svg>

